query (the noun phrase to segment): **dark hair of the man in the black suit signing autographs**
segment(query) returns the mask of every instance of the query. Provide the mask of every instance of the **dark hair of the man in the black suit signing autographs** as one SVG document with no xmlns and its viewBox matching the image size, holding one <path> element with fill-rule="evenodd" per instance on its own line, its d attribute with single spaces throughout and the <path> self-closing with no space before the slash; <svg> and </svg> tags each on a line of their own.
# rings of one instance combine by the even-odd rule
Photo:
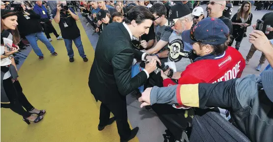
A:
<svg viewBox="0 0 273 142">
<path fill-rule="evenodd" d="M 126 24 L 131 24 L 133 20 L 136 21 L 136 24 L 141 24 L 144 20 L 155 20 L 153 14 L 145 6 L 135 6 L 126 13 L 124 22 Z"/>
</svg>

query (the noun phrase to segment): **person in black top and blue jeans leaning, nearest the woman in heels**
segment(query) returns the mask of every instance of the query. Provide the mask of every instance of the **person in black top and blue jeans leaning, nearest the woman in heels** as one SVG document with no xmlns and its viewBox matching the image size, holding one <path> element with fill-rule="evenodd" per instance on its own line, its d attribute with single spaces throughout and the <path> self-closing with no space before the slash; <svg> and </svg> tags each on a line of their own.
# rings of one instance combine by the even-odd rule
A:
<svg viewBox="0 0 273 142">
<path fill-rule="evenodd" d="M 18 14 L 18 29 L 22 35 L 27 38 L 27 41 L 33 48 L 33 51 L 39 56 L 39 60 L 44 59 L 44 55 L 41 49 L 38 47 L 37 39 L 46 45 L 53 56 L 56 56 L 54 47 L 42 32 L 42 26 L 40 24 L 41 17 L 33 10 L 26 9 L 26 6 L 22 3 L 21 6 L 15 8 Z"/>
</svg>

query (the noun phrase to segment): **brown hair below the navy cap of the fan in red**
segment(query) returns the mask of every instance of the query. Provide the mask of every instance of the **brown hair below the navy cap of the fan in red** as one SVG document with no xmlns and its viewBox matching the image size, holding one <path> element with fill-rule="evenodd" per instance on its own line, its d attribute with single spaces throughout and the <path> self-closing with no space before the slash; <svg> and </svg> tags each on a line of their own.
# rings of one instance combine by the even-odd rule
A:
<svg viewBox="0 0 273 142">
<path fill-rule="evenodd" d="M 227 38 L 227 40 L 223 44 L 220 44 L 220 45 L 211 45 L 213 47 L 213 52 L 212 53 L 215 56 L 218 56 L 218 55 L 222 54 L 227 49 L 228 44 L 230 42 L 230 36 L 227 35 L 226 38 Z M 202 47 L 204 47 L 204 46 L 207 45 L 207 44 L 202 44 L 202 43 L 199 43 L 199 42 L 197 42 L 197 43 L 198 43 L 198 45 L 200 47 L 200 50 L 202 49 Z"/>
</svg>

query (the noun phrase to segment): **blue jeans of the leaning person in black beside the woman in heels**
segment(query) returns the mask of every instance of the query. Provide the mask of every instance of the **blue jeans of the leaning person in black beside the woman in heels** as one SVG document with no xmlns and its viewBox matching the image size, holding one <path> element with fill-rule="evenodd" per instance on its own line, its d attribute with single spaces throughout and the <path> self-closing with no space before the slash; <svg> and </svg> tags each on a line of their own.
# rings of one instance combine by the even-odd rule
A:
<svg viewBox="0 0 273 142">
<path fill-rule="evenodd" d="M 50 41 L 46 38 L 44 33 L 43 32 L 36 32 L 36 33 L 32 33 L 32 34 L 27 35 L 26 38 L 37 56 L 39 56 L 39 57 L 44 56 L 44 54 L 42 53 L 41 49 L 38 47 L 36 37 L 47 46 L 48 50 L 51 53 L 55 52 L 54 47 L 51 45 Z"/>
</svg>

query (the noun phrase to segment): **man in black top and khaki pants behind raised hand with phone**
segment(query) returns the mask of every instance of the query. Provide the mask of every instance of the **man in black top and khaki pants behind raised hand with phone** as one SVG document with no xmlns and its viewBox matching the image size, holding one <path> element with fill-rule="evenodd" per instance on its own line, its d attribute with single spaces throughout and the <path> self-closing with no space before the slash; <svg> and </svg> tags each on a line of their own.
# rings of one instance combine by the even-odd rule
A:
<svg viewBox="0 0 273 142">
<path fill-rule="evenodd" d="M 269 12 L 269 13 L 265 14 L 263 16 L 263 18 L 261 19 L 262 21 L 264 21 L 262 32 L 263 33 L 268 32 L 268 34 L 265 34 L 265 35 L 269 40 L 273 39 L 273 27 L 272 27 L 273 20 L 272 19 L 273 19 L 273 12 Z M 267 25 L 270 25 L 270 27 L 267 27 Z M 256 29 L 256 25 L 254 25 L 253 28 Z M 249 59 L 252 58 L 252 56 L 254 55 L 256 50 L 257 49 L 253 45 L 251 45 L 251 47 L 248 51 L 248 54 L 246 56 L 246 64 L 249 64 Z M 265 60 L 266 60 L 265 54 L 262 52 L 262 56 L 260 58 L 260 63 L 258 64 L 258 66 L 256 68 L 257 71 L 262 71 L 262 65 L 265 63 Z"/>
</svg>

